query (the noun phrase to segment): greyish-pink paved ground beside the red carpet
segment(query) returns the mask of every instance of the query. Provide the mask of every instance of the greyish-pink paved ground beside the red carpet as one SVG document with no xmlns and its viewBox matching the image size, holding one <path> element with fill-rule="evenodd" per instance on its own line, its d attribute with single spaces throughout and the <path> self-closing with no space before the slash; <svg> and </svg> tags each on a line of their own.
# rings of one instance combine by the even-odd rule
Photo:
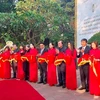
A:
<svg viewBox="0 0 100 100">
<path fill-rule="evenodd" d="M 80 85 L 79 71 L 77 71 L 78 86 Z M 89 93 L 72 91 L 61 87 L 30 83 L 46 100 L 94 100 Z M 84 92 L 84 93 L 83 93 Z M 96 99 L 96 100 L 100 100 Z"/>
</svg>

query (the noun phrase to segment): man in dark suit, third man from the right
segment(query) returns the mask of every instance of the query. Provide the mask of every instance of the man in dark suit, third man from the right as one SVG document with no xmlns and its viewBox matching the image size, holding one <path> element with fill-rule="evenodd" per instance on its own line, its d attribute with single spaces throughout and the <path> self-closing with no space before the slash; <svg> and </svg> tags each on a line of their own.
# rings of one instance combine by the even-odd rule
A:
<svg viewBox="0 0 100 100">
<path fill-rule="evenodd" d="M 48 50 L 45 48 L 44 43 L 41 43 L 38 57 L 42 57 L 47 51 Z M 38 83 L 46 84 L 47 83 L 47 63 L 39 62 L 39 69 L 40 69 L 40 81 Z"/>
</svg>

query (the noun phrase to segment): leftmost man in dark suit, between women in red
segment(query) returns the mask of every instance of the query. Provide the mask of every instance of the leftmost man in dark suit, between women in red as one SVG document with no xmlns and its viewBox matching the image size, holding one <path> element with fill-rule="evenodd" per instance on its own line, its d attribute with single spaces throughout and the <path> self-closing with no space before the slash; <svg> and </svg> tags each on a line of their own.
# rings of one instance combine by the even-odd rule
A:
<svg viewBox="0 0 100 100">
<path fill-rule="evenodd" d="M 13 45 L 13 51 L 11 51 L 11 54 L 16 54 L 18 53 L 18 47 L 16 44 Z M 16 70 L 17 70 L 17 62 L 12 61 L 12 69 L 13 69 L 13 78 L 16 78 Z"/>
</svg>

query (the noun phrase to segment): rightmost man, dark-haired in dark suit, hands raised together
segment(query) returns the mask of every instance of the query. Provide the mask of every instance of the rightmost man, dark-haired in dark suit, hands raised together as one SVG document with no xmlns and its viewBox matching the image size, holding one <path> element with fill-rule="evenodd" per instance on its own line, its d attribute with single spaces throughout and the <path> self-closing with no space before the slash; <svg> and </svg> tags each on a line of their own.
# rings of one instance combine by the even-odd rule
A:
<svg viewBox="0 0 100 100">
<path fill-rule="evenodd" d="M 87 39 L 81 40 L 81 47 L 77 50 L 77 57 L 80 58 L 84 54 L 89 54 L 90 47 L 87 46 Z M 80 77 L 82 87 L 79 90 L 86 89 L 86 92 L 89 91 L 89 64 L 84 64 L 80 66 Z"/>
</svg>

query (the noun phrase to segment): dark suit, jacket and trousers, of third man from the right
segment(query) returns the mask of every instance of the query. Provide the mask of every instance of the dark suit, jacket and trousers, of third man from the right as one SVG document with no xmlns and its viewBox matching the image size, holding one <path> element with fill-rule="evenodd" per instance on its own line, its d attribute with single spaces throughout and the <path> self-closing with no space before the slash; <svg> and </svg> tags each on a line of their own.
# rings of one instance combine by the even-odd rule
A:
<svg viewBox="0 0 100 100">
<path fill-rule="evenodd" d="M 43 55 L 45 52 L 47 52 L 48 50 L 46 48 L 44 48 L 44 50 L 41 53 L 41 50 L 39 51 L 39 53 L 41 53 L 41 55 Z M 47 82 L 47 63 L 39 63 L 39 69 L 40 69 L 40 82 Z"/>
</svg>

